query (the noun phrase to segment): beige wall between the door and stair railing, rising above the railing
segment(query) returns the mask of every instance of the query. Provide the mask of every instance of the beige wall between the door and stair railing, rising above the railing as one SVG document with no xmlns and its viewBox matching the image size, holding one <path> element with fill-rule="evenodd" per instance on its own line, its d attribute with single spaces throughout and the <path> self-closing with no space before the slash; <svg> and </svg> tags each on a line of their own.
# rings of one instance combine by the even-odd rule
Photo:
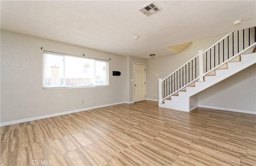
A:
<svg viewBox="0 0 256 166">
<path fill-rule="evenodd" d="M 159 58 L 148 59 L 147 70 L 147 98 L 158 100 L 158 78 L 165 78 L 174 70 L 179 68 L 182 64 L 196 56 L 198 50 L 208 49 L 211 45 L 216 43 L 224 35 L 210 37 L 199 41 L 194 41 L 191 45 L 186 47 L 181 53 Z M 157 55 L 156 55 L 157 56 Z M 156 76 L 158 74 L 158 76 Z"/>
</svg>

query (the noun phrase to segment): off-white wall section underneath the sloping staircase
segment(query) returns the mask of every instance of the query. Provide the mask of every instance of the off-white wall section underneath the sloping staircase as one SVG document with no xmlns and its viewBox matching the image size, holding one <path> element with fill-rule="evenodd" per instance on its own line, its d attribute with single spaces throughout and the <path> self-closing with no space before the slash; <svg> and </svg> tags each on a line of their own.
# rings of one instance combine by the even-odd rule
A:
<svg viewBox="0 0 256 166">
<path fill-rule="evenodd" d="M 256 64 L 200 92 L 198 105 L 256 112 Z"/>
</svg>

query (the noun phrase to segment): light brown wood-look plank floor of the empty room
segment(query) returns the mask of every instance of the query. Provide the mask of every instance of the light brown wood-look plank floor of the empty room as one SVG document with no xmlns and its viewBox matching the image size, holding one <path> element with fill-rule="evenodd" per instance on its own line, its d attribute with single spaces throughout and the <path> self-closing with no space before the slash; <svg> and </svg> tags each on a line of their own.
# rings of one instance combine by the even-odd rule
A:
<svg viewBox="0 0 256 166">
<path fill-rule="evenodd" d="M 1 127 L 1 166 L 256 166 L 256 115 L 120 104 Z"/>
</svg>

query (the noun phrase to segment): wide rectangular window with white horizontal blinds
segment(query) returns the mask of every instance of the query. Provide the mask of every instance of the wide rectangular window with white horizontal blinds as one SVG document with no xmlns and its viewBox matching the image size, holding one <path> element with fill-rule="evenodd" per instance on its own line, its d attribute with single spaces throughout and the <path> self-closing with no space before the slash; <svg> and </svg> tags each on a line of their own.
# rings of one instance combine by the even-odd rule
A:
<svg viewBox="0 0 256 166">
<path fill-rule="evenodd" d="M 108 86 L 108 61 L 43 53 L 43 88 Z"/>
</svg>

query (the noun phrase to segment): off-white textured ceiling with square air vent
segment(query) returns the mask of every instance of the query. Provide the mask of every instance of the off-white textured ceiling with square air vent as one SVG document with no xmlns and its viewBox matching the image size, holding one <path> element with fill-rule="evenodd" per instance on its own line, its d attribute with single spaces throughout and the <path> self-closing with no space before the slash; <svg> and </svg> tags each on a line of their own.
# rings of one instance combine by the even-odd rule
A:
<svg viewBox="0 0 256 166">
<path fill-rule="evenodd" d="M 147 17 L 138 9 L 150 2 L 1 1 L 1 29 L 148 59 L 175 54 L 166 47 L 256 26 L 256 1 L 154 1 L 162 11 Z"/>
</svg>

